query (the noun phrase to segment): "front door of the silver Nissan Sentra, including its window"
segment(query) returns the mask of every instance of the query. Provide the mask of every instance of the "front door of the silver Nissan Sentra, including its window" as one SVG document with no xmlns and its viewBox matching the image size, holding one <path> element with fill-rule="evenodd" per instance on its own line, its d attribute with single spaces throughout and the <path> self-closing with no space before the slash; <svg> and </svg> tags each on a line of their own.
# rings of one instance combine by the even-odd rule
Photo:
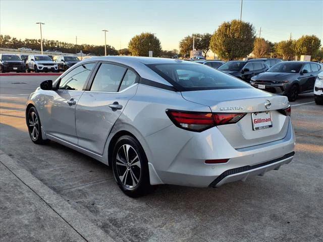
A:
<svg viewBox="0 0 323 242">
<path fill-rule="evenodd" d="M 84 92 L 91 70 L 96 63 L 80 65 L 66 73 L 47 104 L 44 118 L 46 134 L 77 144 L 75 107 Z"/>
</svg>

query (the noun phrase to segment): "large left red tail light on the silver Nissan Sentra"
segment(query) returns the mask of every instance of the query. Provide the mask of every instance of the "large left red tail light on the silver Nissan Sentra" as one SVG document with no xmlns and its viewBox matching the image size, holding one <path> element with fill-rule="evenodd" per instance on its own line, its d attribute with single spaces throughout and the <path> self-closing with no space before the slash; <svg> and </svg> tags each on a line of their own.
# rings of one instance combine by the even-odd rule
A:
<svg viewBox="0 0 323 242">
<path fill-rule="evenodd" d="M 235 124 L 246 115 L 246 113 L 189 112 L 169 109 L 166 113 L 177 127 L 195 132 L 202 132 L 214 126 Z"/>
</svg>

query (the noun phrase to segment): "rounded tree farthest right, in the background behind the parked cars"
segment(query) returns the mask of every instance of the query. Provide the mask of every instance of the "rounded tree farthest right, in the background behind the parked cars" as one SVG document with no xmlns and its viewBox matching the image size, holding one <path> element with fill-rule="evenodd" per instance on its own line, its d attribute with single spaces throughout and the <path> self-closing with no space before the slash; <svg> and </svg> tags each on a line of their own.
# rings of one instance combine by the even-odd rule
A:
<svg viewBox="0 0 323 242">
<path fill-rule="evenodd" d="M 295 52 L 297 55 L 311 55 L 315 57 L 319 47 L 321 46 L 321 41 L 315 35 L 303 35 L 295 42 Z"/>
</svg>

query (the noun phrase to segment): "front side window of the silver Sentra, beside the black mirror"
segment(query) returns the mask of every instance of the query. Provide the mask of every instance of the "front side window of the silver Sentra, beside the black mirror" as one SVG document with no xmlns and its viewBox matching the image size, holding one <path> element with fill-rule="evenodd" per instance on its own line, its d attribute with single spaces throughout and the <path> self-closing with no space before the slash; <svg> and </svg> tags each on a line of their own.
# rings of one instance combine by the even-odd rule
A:
<svg viewBox="0 0 323 242">
<path fill-rule="evenodd" d="M 84 84 L 94 66 L 95 63 L 88 63 L 73 69 L 61 79 L 59 89 L 83 90 Z"/>
</svg>

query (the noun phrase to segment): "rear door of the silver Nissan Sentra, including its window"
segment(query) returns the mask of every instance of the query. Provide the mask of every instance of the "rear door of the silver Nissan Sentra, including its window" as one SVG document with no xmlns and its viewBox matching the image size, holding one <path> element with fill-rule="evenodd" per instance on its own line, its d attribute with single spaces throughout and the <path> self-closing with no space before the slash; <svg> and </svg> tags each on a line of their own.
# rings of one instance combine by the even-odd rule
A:
<svg viewBox="0 0 323 242">
<path fill-rule="evenodd" d="M 123 112 L 128 100 L 135 95 L 139 76 L 124 66 L 101 63 L 76 106 L 78 145 L 103 154 L 106 139 Z"/>
</svg>

